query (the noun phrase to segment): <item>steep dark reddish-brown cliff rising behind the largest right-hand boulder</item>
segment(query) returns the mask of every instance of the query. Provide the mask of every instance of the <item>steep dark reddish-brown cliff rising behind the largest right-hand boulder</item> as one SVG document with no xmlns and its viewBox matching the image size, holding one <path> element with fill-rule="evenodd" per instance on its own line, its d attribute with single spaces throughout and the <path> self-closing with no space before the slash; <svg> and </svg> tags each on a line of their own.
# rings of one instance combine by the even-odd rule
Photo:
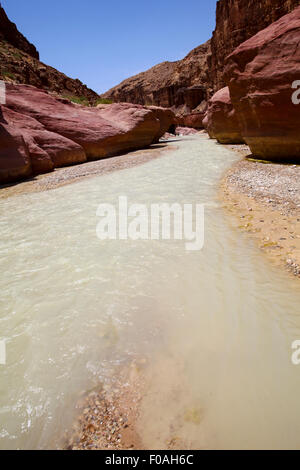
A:
<svg viewBox="0 0 300 470">
<path fill-rule="evenodd" d="M 225 59 L 237 46 L 299 5 L 299 0 L 219 0 L 209 63 L 212 89 L 224 87 Z"/>
</svg>

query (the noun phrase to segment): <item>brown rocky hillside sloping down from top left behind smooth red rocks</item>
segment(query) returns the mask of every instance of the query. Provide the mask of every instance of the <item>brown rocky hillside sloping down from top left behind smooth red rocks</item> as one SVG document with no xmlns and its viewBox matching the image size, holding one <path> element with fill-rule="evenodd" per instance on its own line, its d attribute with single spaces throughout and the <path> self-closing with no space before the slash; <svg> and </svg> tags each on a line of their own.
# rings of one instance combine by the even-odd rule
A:
<svg viewBox="0 0 300 470">
<path fill-rule="evenodd" d="M 78 79 L 72 79 L 39 61 L 39 53 L 11 23 L 0 7 L 0 80 L 52 91 L 81 104 L 96 104 L 99 96 Z"/>
</svg>

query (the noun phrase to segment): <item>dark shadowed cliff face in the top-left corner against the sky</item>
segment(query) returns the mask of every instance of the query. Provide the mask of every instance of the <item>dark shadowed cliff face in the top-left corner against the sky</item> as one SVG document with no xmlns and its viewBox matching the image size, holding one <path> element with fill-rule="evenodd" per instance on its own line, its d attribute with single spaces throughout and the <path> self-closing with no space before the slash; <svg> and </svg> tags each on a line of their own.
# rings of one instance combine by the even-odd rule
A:
<svg viewBox="0 0 300 470">
<path fill-rule="evenodd" d="M 8 18 L 1 7 L 0 4 L 0 40 L 6 41 L 12 46 L 20 49 L 23 52 L 26 52 L 31 57 L 39 60 L 39 53 L 24 36 L 21 34 L 16 25 L 12 23 Z"/>
</svg>

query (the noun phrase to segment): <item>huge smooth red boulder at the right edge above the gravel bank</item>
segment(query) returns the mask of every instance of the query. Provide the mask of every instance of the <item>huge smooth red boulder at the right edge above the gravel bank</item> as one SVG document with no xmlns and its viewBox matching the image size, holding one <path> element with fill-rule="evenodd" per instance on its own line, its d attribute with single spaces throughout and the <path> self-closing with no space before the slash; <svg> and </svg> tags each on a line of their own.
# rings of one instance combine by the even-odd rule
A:
<svg viewBox="0 0 300 470">
<path fill-rule="evenodd" d="M 300 160 L 300 7 L 241 44 L 227 59 L 225 79 L 254 155 Z M 298 87 L 299 88 L 299 87 Z"/>
</svg>

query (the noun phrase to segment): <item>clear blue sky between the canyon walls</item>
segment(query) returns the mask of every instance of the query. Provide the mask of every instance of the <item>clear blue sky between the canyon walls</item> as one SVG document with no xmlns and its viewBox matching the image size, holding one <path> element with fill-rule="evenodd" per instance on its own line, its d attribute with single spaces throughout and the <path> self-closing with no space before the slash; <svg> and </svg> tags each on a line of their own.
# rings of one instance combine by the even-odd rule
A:
<svg viewBox="0 0 300 470">
<path fill-rule="evenodd" d="M 183 58 L 215 27 L 216 0 L 2 0 L 41 60 L 102 93 Z"/>
</svg>

